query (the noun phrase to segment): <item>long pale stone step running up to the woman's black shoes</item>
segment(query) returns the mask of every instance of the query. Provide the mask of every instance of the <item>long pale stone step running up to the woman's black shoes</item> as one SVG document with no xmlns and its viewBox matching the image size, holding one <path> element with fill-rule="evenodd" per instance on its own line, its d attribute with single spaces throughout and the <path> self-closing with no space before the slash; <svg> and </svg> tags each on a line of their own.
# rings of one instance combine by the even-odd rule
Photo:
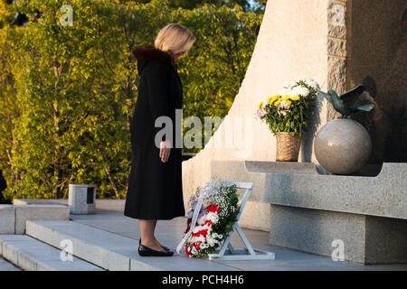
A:
<svg viewBox="0 0 407 289">
<path fill-rule="evenodd" d="M 138 256 L 138 239 L 128 238 L 71 220 L 27 221 L 26 234 L 59 247 L 71 240 L 72 254 L 110 271 L 235 271 L 232 266 L 185 255 Z"/>
</svg>

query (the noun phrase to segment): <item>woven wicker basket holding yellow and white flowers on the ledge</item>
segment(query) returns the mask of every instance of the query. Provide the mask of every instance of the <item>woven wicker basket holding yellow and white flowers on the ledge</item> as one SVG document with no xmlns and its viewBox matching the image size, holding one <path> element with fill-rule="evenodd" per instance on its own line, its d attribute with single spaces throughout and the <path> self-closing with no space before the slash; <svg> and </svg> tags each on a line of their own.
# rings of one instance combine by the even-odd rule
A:
<svg viewBox="0 0 407 289">
<path fill-rule="evenodd" d="M 301 136 L 289 133 L 277 133 L 277 162 L 298 162 Z"/>
</svg>

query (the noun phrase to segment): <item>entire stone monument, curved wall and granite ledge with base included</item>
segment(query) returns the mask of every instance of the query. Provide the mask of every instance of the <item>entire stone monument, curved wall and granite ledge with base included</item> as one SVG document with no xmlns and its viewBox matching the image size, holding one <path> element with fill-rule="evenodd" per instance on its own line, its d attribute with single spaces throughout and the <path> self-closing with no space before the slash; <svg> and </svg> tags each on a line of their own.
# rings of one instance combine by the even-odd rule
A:
<svg viewBox="0 0 407 289">
<path fill-rule="evenodd" d="M 270 231 L 270 244 L 329 256 L 333 241 L 343 240 L 346 247 L 357 239 L 347 247 L 346 260 L 406 262 L 407 197 L 402 188 L 407 183 L 400 177 L 407 165 L 405 28 L 402 0 L 268 1 L 228 115 L 204 149 L 183 162 L 185 206 L 212 175 L 254 182 L 239 223 Z M 331 175 L 317 163 L 317 131 L 340 117 L 323 98 L 317 98 L 310 116 L 299 163 L 275 162 L 276 139 L 254 113 L 261 100 L 298 77 L 315 79 L 321 90 L 338 94 L 360 83 L 367 88 L 364 97 L 377 107 L 351 116 L 372 136 L 373 154 L 360 172 Z M 295 242 L 304 238 L 309 242 Z"/>
</svg>

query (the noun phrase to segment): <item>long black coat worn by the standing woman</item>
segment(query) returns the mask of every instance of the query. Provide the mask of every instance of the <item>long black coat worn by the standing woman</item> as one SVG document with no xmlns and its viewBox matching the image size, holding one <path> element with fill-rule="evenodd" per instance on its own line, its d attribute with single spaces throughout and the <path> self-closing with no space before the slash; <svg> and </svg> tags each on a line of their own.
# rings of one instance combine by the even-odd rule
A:
<svg viewBox="0 0 407 289">
<path fill-rule="evenodd" d="M 175 108 L 182 109 L 183 90 L 173 57 L 152 45 L 133 50 L 140 76 L 136 108 L 131 118 L 132 163 L 124 215 L 135 219 L 173 219 L 185 216 L 181 148 L 175 147 Z M 156 117 L 170 117 L 173 148 L 166 163 L 155 144 Z M 178 135 L 176 135 L 177 133 Z"/>
</svg>

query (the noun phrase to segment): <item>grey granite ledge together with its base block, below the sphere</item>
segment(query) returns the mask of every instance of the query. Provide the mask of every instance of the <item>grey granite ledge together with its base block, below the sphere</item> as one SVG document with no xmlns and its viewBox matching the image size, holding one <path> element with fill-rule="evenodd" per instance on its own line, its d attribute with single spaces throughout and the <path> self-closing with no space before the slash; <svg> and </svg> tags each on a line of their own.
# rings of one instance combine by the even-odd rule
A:
<svg viewBox="0 0 407 289">
<path fill-rule="evenodd" d="M 212 175 L 254 183 L 239 223 L 270 230 L 271 245 L 332 256 L 340 242 L 346 261 L 407 263 L 407 163 L 344 176 L 314 163 L 213 161 Z"/>
</svg>

